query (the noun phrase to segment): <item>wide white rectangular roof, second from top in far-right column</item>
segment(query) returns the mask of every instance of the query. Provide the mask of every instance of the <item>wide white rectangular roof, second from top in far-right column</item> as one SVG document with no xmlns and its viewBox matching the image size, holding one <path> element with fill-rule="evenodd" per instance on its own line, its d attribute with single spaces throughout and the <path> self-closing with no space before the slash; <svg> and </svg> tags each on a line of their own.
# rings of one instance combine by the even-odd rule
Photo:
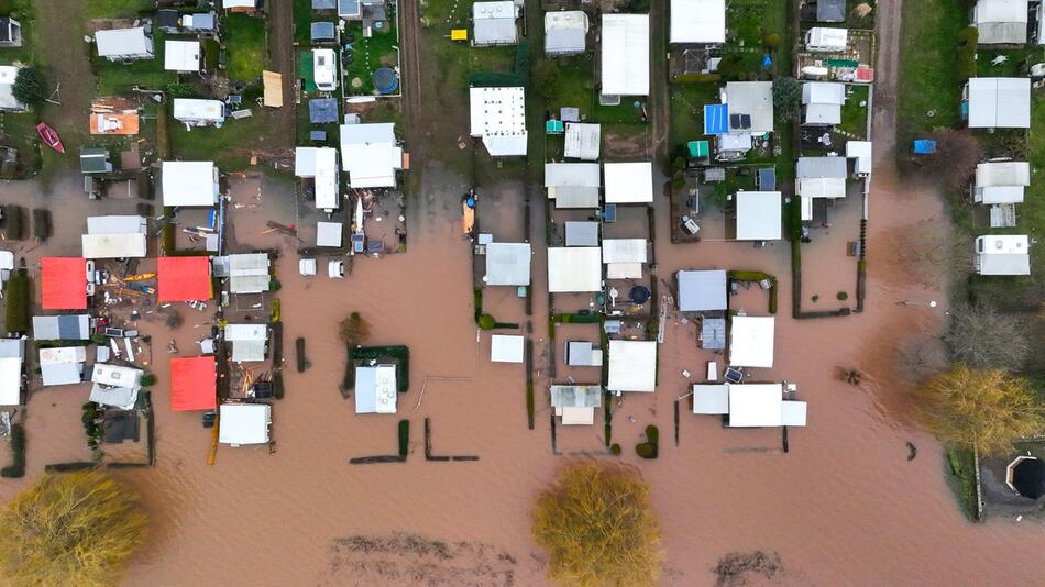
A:
<svg viewBox="0 0 1045 587">
<path fill-rule="evenodd" d="M 1030 129 L 1031 79 L 975 77 L 969 80 L 970 129 Z"/>
</svg>

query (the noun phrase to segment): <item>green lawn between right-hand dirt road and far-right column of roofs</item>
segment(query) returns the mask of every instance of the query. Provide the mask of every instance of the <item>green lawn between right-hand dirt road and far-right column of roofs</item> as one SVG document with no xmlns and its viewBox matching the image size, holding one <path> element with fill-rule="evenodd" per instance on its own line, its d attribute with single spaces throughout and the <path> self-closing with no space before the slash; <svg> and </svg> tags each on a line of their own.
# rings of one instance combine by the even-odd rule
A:
<svg viewBox="0 0 1045 587">
<path fill-rule="evenodd" d="M 960 122 L 955 55 L 958 32 L 969 23 L 967 4 L 967 0 L 919 0 L 903 5 L 897 112 L 901 158 L 916 136 Z M 933 117 L 927 115 L 931 111 Z"/>
</svg>

